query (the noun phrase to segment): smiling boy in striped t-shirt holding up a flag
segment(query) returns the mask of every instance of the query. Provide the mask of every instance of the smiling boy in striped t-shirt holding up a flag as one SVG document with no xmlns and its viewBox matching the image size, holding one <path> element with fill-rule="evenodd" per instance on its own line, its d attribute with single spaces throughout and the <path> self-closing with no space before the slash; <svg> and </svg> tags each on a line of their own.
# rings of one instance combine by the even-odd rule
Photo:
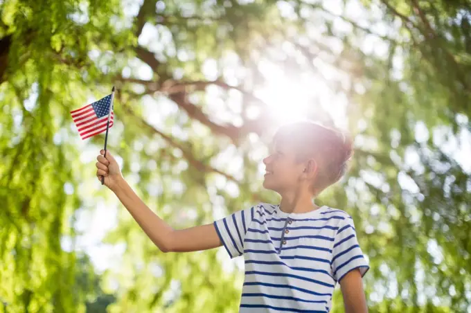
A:
<svg viewBox="0 0 471 313">
<path fill-rule="evenodd" d="M 101 151 L 103 154 L 104 151 Z M 121 203 L 161 251 L 186 252 L 224 245 L 245 257 L 240 312 L 329 312 L 338 282 L 347 313 L 368 312 L 362 276 L 368 271 L 353 220 L 312 199 L 346 171 L 352 145 L 334 129 L 309 122 L 287 125 L 265 158 L 263 186 L 280 194 L 279 205 L 260 203 L 213 224 L 175 230 L 155 215 L 121 176 L 112 154 L 98 156 Z"/>
</svg>

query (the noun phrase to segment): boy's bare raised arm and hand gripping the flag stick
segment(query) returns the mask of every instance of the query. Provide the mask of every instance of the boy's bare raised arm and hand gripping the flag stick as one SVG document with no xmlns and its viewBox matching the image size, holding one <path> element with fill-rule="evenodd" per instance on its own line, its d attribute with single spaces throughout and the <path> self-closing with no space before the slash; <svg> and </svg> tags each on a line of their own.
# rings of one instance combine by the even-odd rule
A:
<svg viewBox="0 0 471 313">
<path fill-rule="evenodd" d="M 214 224 L 183 230 L 172 229 L 134 193 L 134 190 L 123 179 L 118 163 L 112 154 L 107 151 L 105 158 L 104 153 L 105 151 L 101 150 L 101 155 L 97 157 L 96 175 L 98 180 L 101 181 L 101 177 L 105 177 L 105 186 L 116 194 L 134 220 L 141 226 L 141 229 L 161 251 L 201 251 L 222 245 Z"/>
</svg>

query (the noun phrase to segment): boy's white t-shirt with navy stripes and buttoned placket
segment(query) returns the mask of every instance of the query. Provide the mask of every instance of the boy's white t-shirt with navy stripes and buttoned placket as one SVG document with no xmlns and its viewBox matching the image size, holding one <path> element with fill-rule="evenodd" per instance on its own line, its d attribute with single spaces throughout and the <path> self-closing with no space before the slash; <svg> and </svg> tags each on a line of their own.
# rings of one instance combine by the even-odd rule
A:
<svg viewBox="0 0 471 313">
<path fill-rule="evenodd" d="M 245 258 L 240 312 L 329 312 L 335 284 L 369 268 L 352 217 L 328 206 L 285 213 L 260 203 L 214 224 L 229 256 Z"/>
</svg>

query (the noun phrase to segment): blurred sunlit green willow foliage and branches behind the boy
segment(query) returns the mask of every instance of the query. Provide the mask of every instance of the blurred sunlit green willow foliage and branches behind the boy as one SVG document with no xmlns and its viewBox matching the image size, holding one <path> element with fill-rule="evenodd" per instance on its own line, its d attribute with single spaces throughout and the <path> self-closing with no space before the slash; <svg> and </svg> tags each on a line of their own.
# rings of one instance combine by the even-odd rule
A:
<svg viewBox="0 0 471 313">
<path fill-rule="evenodd" d="M 243 260 L 161 253 L 69 111 L 177 229 L 260 201 L 299 118 L 353 134 L 319 204 L 355 220 L 370 312 L 471 312 L 471 3 L 0 1 L 0 312 L 237 312 Z M 332 312 L 343 312 L 339 289 Z"/>
</svg>

